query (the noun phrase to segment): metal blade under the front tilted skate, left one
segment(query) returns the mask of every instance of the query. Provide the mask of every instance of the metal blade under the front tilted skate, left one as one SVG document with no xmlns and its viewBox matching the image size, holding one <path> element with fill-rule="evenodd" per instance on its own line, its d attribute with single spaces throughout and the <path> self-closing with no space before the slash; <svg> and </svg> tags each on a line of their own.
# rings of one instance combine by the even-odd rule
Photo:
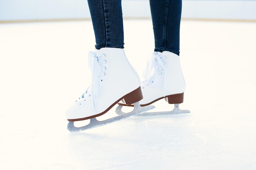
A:
<svg viewBox="0 0 256 170">
<path fill-rule="evenodd" d="M 139 102 L 134 103 L 134 106 L 135 107 L 131 112 L 124 113 L 124 114 L 121 114 L 119 116 L 115 116 L 113 118 L 109 118 L 109 119 L 106 119 L 106 120 L 99 121 L 96 118 L 91 118 L 90 123 L 85 125 L 85 126 L 82 126 L 82 127 L 76 127 L 76 126 L 74 126 L 74 122 L 68 122 L 67 130 L 69 130 L 70 132 L 85 131 L 85 130 L 88 130 L 88 129 L 92 129 L 92 128 L 96 128 L 96 127 L 103 126 L 103 125 L 106 125 L 106 124 L 110 124 L 110 123 L 113 123 L 113 122 L 117 122 L 119 120 L 130 118 L 132 116 L 136 116 L 138 114 L 144 113 L 146 111 L 149 111 L 149 110 L 155 108 L 155 106 L 141 107 L 139 105 Z"/>
</svg>

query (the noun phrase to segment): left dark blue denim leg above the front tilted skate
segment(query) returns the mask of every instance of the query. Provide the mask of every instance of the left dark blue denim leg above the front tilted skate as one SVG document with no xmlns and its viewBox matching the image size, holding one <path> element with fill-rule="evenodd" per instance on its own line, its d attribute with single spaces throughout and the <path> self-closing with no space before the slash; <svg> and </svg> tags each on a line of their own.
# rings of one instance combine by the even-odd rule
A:
<svg viewBox="0 0 256 170">
<path fill-rule="evenodd" d="M 124 48 L 121 0 L 88 0 L 96 49 Z"/>
</svg>

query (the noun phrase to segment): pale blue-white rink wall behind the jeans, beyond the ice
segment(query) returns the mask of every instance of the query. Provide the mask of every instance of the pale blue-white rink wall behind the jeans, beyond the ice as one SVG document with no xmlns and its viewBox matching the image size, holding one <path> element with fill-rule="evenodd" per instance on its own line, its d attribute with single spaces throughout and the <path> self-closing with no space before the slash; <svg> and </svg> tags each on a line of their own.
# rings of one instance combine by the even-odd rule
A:
<svg viewBox="0 0 256 170">
<path fill-rule="evenodd" d="M 148 0 L 122 0 L 124 17 L 150 17 Z M 183 18 L 256 20 L 256 0 L 183 0 Z M 0 21 L 90 18 L 87 0 L 0 0 Z"/>
</svg>

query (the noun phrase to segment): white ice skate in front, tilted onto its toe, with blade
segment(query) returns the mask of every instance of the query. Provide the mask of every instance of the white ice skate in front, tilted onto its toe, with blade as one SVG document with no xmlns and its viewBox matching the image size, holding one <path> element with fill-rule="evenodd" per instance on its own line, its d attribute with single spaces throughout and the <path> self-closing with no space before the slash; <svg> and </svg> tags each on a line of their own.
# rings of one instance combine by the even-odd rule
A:
<svg viewBox="0 0 256 170">
<path fill-rule="evenodd" d="M 92 71 L 92 85 L 66 111 L 69 131 L 83 131 L 135 116 L 150 109 L 141 107 L 141 87 L 139 76 L 128 62 L 121 48 L 101 48 L 89 53 L 89 68 Z M 133 104 L 135 108 L 129 113 L 108 120 L 98 121 L 96 117 L 109 111 L 120 100 Z M 75 121 L 90 119 L 90 123 L 75 127 Z"/>
</svg>

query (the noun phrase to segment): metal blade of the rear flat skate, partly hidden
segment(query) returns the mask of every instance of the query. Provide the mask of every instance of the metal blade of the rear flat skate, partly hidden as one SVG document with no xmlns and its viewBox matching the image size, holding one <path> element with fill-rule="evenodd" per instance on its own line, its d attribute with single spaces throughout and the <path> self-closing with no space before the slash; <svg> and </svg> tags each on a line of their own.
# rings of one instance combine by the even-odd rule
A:
<svg viewBox="0 0 256 170">
<path fill-rule="evenodd" d="M 116 109 L 116 113 L 118 115 L 125 114 L 122 111 L 122 105 L 119 105 Z M 184 114 L 184 113 L 190 113 L 189 110 L 181 110 L 179 107 L 179 104 L 174 104 L 174 108 L 172 111 L 157 111 L 157 112 L 144 112 L 136 116 L 166 116 L 166 115 L 176 115 L 176 114 Z"/>
</svg>

